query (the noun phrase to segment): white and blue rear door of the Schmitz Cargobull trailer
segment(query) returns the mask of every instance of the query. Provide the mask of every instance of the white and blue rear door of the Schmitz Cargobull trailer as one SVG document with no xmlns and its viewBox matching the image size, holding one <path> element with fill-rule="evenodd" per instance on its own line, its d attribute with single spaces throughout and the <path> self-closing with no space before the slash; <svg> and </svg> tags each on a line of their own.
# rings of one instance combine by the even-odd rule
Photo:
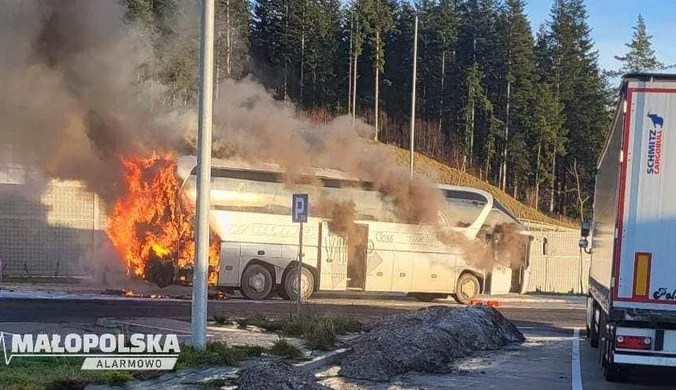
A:
<svg viewBox="0 0 676 390">
<path fill-rule="evenodd" d="M 613 301 L 676 310 L 676 83 L 630 82 L 626 96 Z"/>
</svg>

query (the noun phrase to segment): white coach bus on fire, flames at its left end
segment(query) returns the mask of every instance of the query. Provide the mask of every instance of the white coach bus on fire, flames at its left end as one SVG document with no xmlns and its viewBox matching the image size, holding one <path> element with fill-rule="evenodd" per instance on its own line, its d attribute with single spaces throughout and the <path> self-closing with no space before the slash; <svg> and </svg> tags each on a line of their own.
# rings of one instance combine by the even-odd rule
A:
<svg viewBox="0 0 676 390">
<path fill-rule="evenodd" d="M 134 273 L 160 286 L 190 283 L 196 159 L 161 157 L 130 172 L 131 182 L 144 175 L 149 180 L 130 186 L 130 192 L 155 201 L 129 200 L 119 208 L 127 214 L 145 211 L 133 226 L 121 224 L 126 236 L 135 235 L 125 259 Z M 290 183 L 274 164 L 214 159 L 209 282 L 248 299 L 297 297 L 299 227 L 291 221 L 291 197 L 301 192 L 310 198 L 303 298 L 319 290 L 358 290 L 401 292 L 425 301 L 453 295 L 468 303 L 482 292 L 522 292 L 530 245 L 523 225 L 487 192 L 438 189 L 445 202 L 437 223 L 402 222 L 390 196 L 344 172 L 310 169 Z M 140 236 L 139 229 L 145 230 Z M 120 234 L 110 230 L 115 243 Z"/>
</svg>

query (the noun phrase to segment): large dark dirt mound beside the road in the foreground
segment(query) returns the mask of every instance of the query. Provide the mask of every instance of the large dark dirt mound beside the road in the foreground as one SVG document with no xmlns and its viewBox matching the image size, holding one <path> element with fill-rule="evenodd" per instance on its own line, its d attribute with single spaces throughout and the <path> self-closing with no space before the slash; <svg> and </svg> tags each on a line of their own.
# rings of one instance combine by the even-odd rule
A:
<svg viewBox="0 0 676 390">
<path fill-rule="evenodd" d="M 407 371 L 449 372 L 454 359 L 525 338 L 495 309 L 430 307 L 385 317 L 354 340 L 341 375 L 384 382 Z"/>
</svg>

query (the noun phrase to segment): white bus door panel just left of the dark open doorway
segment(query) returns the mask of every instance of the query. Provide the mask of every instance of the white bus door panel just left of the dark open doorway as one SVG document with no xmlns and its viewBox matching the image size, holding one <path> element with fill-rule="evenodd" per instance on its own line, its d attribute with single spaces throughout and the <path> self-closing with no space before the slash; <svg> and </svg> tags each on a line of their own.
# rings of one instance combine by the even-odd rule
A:
<svg viewBox="0 0 676 390">
<path fill-rule="evenodd" d="M 320 290 L 344 291 L 347 288 L 347 240 L 329 229 L 322 222 L 319 229 Z"/>
</svg>

